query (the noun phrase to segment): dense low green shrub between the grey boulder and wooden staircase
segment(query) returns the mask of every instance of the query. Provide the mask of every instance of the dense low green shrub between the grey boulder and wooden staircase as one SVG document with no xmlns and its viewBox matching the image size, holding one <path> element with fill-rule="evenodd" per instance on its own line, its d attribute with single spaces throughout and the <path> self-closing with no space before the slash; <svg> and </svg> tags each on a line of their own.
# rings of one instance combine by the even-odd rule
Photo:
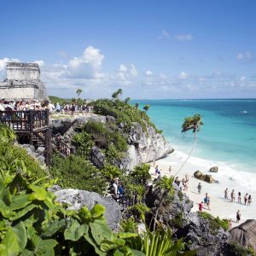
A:
<svg viewBox="0 0 256 256">
<path fill-rule="evenodd" d="M 50 174 L 58 178 L 57 183 L 62 188 L 84 189 L 102 194 L 107 180 L 95 166 L 83 157 L 70 155 L 62 158 L 53 154 Z"/>
</svg>

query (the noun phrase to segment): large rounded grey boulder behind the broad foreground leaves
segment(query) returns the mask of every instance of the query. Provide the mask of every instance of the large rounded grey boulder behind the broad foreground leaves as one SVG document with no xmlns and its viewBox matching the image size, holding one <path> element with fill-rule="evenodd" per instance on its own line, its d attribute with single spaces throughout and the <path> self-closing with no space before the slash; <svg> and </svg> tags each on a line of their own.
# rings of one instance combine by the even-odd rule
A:
<svg viewBox="0 0 256 256">
<path fill-rule="evenodd" d="M 111 197 L 103 197 L 95 192 L 89 192 L 79 189 L 61 189 L 55 191 L 56 201 L 67 203 L 70 209 L 78 210 L 81 207 L 91 209 L 96 204 L 100 204 L 106 208 L 105 217 L 108 226 L 112 230 L 118 230 L 119 221 L 121 219 L 121 211 L 119 204 Z"/>
</svg>

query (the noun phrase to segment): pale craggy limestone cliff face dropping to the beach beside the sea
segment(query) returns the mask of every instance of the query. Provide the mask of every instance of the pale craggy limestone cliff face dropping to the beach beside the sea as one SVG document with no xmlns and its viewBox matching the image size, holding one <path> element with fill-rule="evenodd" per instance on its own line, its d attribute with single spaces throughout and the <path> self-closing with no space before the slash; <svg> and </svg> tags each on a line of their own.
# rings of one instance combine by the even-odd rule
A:
<svg viewBox="0 0 256 256">
<path fill-rule="evenodd" d="M 121 162 L 121 167 L 131 170 L 139 163 L 146 163 L 165 157 L 174 150 L 166 142 L 162 134 L 157 133 L 152 126 L 146 126 L 143 131 L 142 125 L 134 123 L 129 132 L 129 148 L 127 156 Z"/>
</svg>

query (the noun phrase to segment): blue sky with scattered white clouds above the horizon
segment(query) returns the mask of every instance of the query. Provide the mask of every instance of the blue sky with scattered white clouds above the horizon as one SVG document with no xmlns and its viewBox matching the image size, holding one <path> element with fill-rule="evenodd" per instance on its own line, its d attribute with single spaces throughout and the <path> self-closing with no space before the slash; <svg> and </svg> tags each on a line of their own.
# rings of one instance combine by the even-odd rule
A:
<svg viewBox="0 0 256 256">
<path fill-rule="evenodd" d="M 37 61 L 49 95 L 256 97 L 256 2 L 3 1 L 7 61 Z"/>
</svg>

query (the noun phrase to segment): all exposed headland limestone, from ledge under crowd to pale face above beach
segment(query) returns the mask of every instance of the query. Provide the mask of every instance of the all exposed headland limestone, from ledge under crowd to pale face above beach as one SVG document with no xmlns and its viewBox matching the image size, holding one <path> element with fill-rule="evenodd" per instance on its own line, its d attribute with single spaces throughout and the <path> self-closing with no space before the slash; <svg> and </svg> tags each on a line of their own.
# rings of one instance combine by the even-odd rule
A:
<svg viewBox="0 0 256 256">
<path fill-rule="evenodd" d="M 110 116 L 90 114 L 89 116 L 64 117 L 51 120 L 54 132 L 60 132 L 70 142 L 73 134 L 88 121 L 114 122 Z M 128 150 L 125 158 L 119 162 L 121 168 L 131 170 L 139 163 L 146 163 L 165 157 L 173 148 L 166 142 L 162 134 L 157 133 L 154 127 L 147 125 L 143 131 L 142 125 L 133 123 L 130 130 L 124 131 L 123 125 L 119 125 L 119 132 L 127 137 Z"/>
</svg>

